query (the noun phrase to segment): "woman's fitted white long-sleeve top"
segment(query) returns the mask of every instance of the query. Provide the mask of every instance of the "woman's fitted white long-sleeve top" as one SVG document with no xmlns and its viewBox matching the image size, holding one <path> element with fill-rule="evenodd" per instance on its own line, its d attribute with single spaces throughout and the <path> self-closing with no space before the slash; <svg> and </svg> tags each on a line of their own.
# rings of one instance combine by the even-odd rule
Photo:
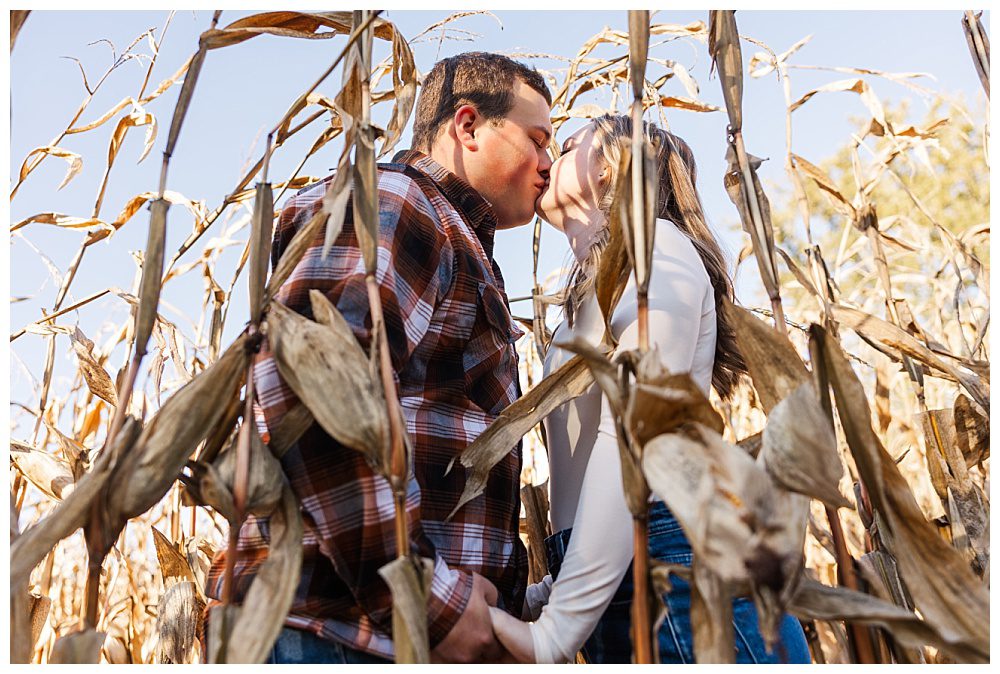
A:
<svg viewBox="0 0 1000 674">
<path fill-rule="evenodd" d="M 638 348 L 634 277 L 611 320 L 620 350 Z M 556 328 L 545 374 L 572 358 L 556 344 L 574 337 L 601 342 L 604 322 L 595 297 L 571 328 Z M 690 372 L 706 393 L 715 363 L 715 295 L 694 244 L 668 220 L 657 220 L 649 284 L 649 342 L 671 372 Z M 632 561 L 632 516 L 625 504 L 614 417 L 600 388 L 561 406 L 545 420 L 552 530 L 573 527 L 559 578 L 532 586 L 528 613 L 535 659 L 568 662 L 593 632 Z M 551 584 L 551 590 L 549 590 Z M 530 604 L 535 604 L 531 606 Z"/>
</svg>

